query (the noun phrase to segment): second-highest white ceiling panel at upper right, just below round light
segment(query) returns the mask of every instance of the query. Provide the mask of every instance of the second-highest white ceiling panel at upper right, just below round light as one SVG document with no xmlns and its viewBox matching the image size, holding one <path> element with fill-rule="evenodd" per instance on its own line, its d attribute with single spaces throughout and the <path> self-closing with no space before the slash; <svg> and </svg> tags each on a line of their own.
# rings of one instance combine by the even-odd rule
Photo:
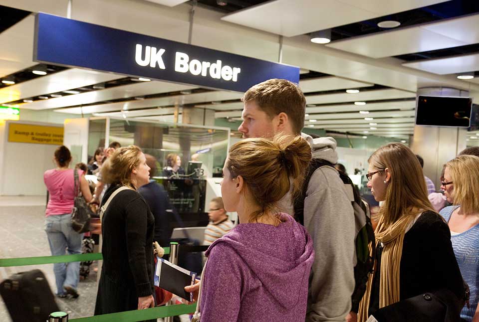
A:
<svg viewBox="0 0 479 322">
<path fill-rule="evenodd" d="M 467 45 L 423 27 L 409 27 L 333 41 L 326 46 L 363 56 L 382 58 Z"/>
</svg>

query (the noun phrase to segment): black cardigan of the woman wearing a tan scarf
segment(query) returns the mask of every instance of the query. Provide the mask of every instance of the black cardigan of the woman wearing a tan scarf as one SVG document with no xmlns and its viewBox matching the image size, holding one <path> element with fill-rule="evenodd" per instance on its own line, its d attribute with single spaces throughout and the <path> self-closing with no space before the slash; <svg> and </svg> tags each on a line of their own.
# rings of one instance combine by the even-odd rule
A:
<svg viewBox="0 0 479 322">
<path fill-rule="evenodd" d="M 378 247 L 378 267 L 381 263 Z M 379 276 L 373 281 L 369 314 L 379 309 Z M 433 211 L 424 212 L 404 235 L 399 272 L 400 301 L 438 289 L 448 289 L 459 299 L 464 297 L 461 271 L 451 244 L 451 232 L 442 217 Z"/>
</svg>

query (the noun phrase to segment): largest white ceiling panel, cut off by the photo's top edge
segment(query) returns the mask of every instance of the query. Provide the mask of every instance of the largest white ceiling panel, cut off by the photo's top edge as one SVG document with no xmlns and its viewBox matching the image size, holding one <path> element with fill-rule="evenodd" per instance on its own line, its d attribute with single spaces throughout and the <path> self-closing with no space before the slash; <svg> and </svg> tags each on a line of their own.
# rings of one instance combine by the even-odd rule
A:
<svg viewBox="0 0 479 322">
<path fill-rule="evenodd" d="M 275 0 L 221 19 L 291 37 L 439 2 L 444 0 Z"/>
</svg>

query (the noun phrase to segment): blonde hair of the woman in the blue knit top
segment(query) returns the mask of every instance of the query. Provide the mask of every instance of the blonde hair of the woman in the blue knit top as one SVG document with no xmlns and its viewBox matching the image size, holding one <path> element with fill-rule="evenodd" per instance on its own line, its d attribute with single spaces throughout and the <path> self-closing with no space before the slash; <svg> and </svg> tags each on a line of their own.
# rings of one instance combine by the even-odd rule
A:
<svg viewBox="0 0 479 322">
<path fill-rule="evenodd" d="M 446 167 L 454 184 L 454 204 L 461 205 L 464 213 L 479 212 L 479 158 L 459 156 Z"/>
</svg>

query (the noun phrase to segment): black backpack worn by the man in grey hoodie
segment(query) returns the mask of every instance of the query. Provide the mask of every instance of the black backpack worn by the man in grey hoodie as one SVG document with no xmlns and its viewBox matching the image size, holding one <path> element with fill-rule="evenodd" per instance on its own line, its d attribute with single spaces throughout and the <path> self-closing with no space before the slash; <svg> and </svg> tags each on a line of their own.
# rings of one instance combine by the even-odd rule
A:
<svg viewBox="0 0 479 322">
<path fill-rule="evenodd" d="M 304 225 L 304 199 L 308 188 L 309 180 L 316 169 L 322 166 L 330 166 L 334 168 L 334 164 L 322 159 L 313 159 L 309 163 L 308 170 L 303 183 L 303 188 L 299 197 L 294 200 L 294 216 L 296 220 Z M 373 270 L 374 257 L 376 254 L 376 240 L 374 237 L 374 230 L 369 218 L 368 208 L 361 199 L 357 187 L 351 181 L 351 178 L 346 174 L 339 172 L 339 177 L 345 184 L 348 193 L 354 196 L 354 201 L 351 204 L 354 209 L 355 221 L 355 246 L 357 263 L 354 267 L 354 292 L 351 296 L 352 308 L 351 311 L 358 312 L 359 302 L 361 301 L 364 292 L 366 291 L 366 283 L 368 282 L 369 273 Z M 352 190 L 352 192 L 351 192 Z M 372 245 L 372 253 L 369 252 L 369 246 Z"/>
</svg>

